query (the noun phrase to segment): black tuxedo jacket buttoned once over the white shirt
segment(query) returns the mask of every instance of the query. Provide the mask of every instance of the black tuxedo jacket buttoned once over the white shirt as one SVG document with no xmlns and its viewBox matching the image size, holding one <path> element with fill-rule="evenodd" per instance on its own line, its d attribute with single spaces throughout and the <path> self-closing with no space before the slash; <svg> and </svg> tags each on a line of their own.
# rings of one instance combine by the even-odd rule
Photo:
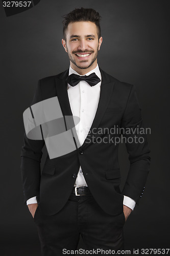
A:
<svg viewBox="0 0 170 256">
<path fill-rule="evenodd" d="M 54 159 L 47 156 L 41 174 L 40 161 L 44 141 L 28 139 L 26 134 L 24 136 L 21 176 L 25 202 L 37 196 L 39 209 L 43 214 L 54 215 L 65 205 L 74 187 L 80 165 L 91 194 L 108 214 L 117 215 L 123 211 L 123 195 L 136 202 L 141 197 L 149 172 L 150 150 L 145 134 L 137 133 L 137 128 L 143 126 L 135 89 L 131 84 L 120 82 L 100 71 L 102 84 L 98 109 L 90 132 L 81 147 Z M 57 96 L 63 116 L 71 116 L 65 81 L 67 76 L 68 70 L 39 80 L 32 104 Z M 108 132 L 101 133 L 106 127 L 108 130 L 112 127 L 133 129 L 132 134 L 123 134 L 130 168 L 122 193 L 119 189 L 118 144 L 109 142 Z M 120 134 L 112 136 L 120 137 Z M 142 143 L 128 141 L 132 136 L 142 136 Z"/>
</svg>

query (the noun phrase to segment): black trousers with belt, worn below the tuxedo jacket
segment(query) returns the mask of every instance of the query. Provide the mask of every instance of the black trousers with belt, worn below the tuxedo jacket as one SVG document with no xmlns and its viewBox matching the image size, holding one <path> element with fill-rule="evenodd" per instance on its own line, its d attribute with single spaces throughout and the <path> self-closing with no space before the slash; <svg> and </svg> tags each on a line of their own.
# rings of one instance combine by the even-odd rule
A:
<svg viewBox="0 0 170 256">
<path fill-rule="evenodd" d="M 107 214 L 91 194 L 76 196 L 71 193 L 66 205 L 53 216 L 43 215 L 38 207 L 34 221 L 43 256 L 64 255 L 66 251 L 71 254 L 77 249 L 80 234 L 89 254 L 93 254 L 92 251 L 95 254 L 96 250 L 97 255 L 101 255 L 102 250 L 124 249 L 124 213 L 117 216 Z"/>
</svg>

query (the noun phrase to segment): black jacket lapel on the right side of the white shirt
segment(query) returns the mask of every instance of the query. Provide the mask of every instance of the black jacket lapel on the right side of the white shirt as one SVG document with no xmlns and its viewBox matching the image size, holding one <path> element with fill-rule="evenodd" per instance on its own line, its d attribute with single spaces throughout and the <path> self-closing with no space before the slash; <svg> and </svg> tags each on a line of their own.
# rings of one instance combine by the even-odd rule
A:
<svg viewBox="0 0 170 256">
<path fill-rule="evenodd" d="M 114 88 L 114 81 L 109 80 L 109 77 L 106 75 L 105 72 L 101 71 L 102 75 L 102 84 L 101 84 L 101 93 L 100 93 L 100 98 L 99 98 L 99 103 L 98 103 L 98 109 L 96 110 L 96 114 L 93 120 L 93 123 L 90 127 L 89 133 L 82 145 L 83 148 L 87 147 L 91 142 L 92 142 L 92 136 L 93 138 L 95 137 L 95 134 L 93 134 L 93 129 L 98 129 L 98 126 L 102 120 L 102 117 L 106 111 L 106 108 L 108 106 L 108 103 L 110 101 L 110 97 L 112 95 L 112 91 Z M 91 141 L 89 143 L 89 141 Z"/>
</svg>

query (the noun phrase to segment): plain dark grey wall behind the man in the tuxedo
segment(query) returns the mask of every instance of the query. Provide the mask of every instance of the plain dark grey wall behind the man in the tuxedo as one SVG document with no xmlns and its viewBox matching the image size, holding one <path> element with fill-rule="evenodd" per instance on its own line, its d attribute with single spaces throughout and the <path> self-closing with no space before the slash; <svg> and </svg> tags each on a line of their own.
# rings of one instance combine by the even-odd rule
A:
<svg viewBox="0 0 170 256">
<path fill-rule="evenodd" d="M 169 246 L 169 1 L 41 0 L 34 8 L 1 16 L 1 255 L 40 255 L 36 226 L 23 205 L 20 148 L 22 113 L 38 79 L 68 68 L 61 45 L 61 16 L 75 7 L 102 16 L 98 63 L 119 80 L 135 84 L 143 121 L 151 127 L 151 173 L 139 206 L 125 225 L 127 248 Z M 122 173 L 128 156 L 120 147 Z M 124 183 L 125 179 L 123 179 Z M 122 185 L 123 185 L 122 183 Z M 83 246 L 82 241 L 80 246 Z M 31 253 L 32 252 L 32 253 Z M 34 253 L 33 253 L 34 252 Z"/>
</svg>

